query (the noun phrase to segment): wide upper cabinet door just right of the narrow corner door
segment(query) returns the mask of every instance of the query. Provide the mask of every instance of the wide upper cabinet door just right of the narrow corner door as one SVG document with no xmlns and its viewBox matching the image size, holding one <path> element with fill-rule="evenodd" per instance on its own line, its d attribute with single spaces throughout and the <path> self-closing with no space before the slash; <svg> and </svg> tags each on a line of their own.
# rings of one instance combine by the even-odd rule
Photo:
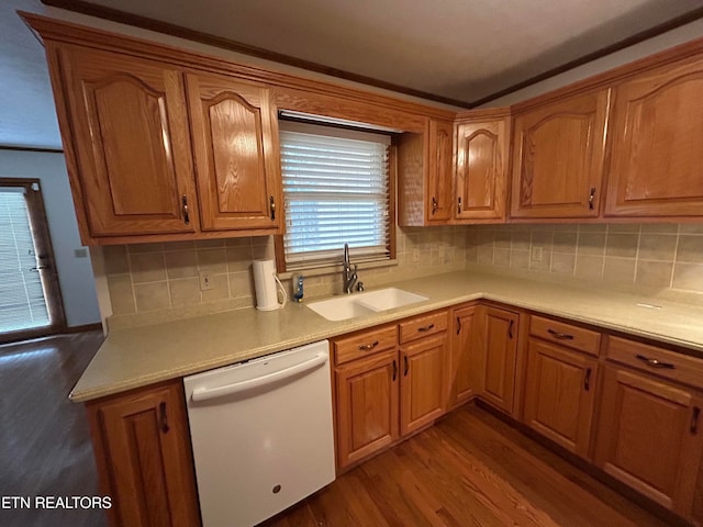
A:
<svg viewBox="0 0 703 527">
<path fill-rule="evenodd" d="M 599 215 L 609 93 L 573 97 L 515 117 L 513 217 Z"/>
</svg>

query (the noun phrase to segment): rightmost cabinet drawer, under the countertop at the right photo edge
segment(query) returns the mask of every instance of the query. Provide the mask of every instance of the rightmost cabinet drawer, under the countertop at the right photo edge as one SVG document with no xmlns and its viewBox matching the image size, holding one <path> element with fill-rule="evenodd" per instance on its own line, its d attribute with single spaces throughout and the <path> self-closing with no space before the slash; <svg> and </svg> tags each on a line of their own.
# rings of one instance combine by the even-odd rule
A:
<svg viewBox="0 0 703 527">
<path fill-rule="evenodd" d="M 610 336 L 606 357 L 666 379 L 703 388 L 703 359 Z"/>
</svg>

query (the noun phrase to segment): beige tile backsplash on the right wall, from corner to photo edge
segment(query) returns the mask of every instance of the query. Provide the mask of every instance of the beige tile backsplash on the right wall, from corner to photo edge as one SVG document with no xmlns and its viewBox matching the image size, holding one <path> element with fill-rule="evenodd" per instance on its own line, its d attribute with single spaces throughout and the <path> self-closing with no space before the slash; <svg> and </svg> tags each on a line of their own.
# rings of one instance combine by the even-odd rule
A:
<svg viewBox="0 0 703 527">
<path fill-rule="evenodd" d="M 535 249 L 542 258 L 535 259 Z M 487 225 L 466 260 L 502 271 L 576 278 L 676 300 L 703 300 L 703 225 Z"/>
</svg>

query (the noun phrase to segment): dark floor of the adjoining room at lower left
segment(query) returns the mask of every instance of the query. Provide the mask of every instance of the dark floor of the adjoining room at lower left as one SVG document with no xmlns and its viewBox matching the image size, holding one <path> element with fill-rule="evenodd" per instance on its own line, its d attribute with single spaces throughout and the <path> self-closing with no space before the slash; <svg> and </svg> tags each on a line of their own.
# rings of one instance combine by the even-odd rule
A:
<svg viewBox="0 0 703 527">
<path fill-rule="evenodd" d="M 0 496 L 31 498 L 3 508 L 3 527 L 102 527 L 99 509 L 36 508 L 35 496 L 97 496 L 82 404 L 68 393 L 102 343 L 102 332 L 0 346 Z"/>
</svg>

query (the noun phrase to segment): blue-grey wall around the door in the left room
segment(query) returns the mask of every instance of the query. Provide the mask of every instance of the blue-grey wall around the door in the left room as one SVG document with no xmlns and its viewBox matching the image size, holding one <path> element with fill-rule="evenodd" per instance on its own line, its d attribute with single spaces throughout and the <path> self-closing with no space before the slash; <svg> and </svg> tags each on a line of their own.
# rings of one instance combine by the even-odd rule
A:
<svg viewBox="0 0 703 527">
<path fill-rule="evenodd" d="M 38 178 L 42 181 L 66 322 L 69 327 L 100 322 L 90 258 L 77 258 L 74 253 L 82 244 L 63 154 L 0 148 L 0 177 Z"/>
</svg>

